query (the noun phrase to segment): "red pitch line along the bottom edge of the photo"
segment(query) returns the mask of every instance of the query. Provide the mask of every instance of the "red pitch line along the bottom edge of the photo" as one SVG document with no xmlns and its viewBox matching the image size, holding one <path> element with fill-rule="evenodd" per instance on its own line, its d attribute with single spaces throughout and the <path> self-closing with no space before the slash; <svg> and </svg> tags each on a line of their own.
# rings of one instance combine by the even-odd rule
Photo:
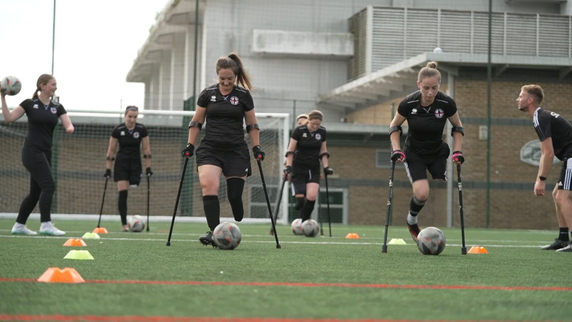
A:
<svg viewBox="0 0 572 322">
<path fill-rule="evenodd" d="M 418 322 L 420 320 L 390 319 L 291 319 L 279 317 L 184 317 L 184 316 L 101 316 L 101 315 L 8 315 L 0 314 L 0 321 L 56 321 L 56 322 Z M 443 322 L 443 320 L 423 320 Z M 456 320 L 448 322 L 513 322 L 508 320 Z M 522 321 L 521 321 L 522 322 Z M 539 322 L 539 321 L 535 321 Z"/>
</svg>

